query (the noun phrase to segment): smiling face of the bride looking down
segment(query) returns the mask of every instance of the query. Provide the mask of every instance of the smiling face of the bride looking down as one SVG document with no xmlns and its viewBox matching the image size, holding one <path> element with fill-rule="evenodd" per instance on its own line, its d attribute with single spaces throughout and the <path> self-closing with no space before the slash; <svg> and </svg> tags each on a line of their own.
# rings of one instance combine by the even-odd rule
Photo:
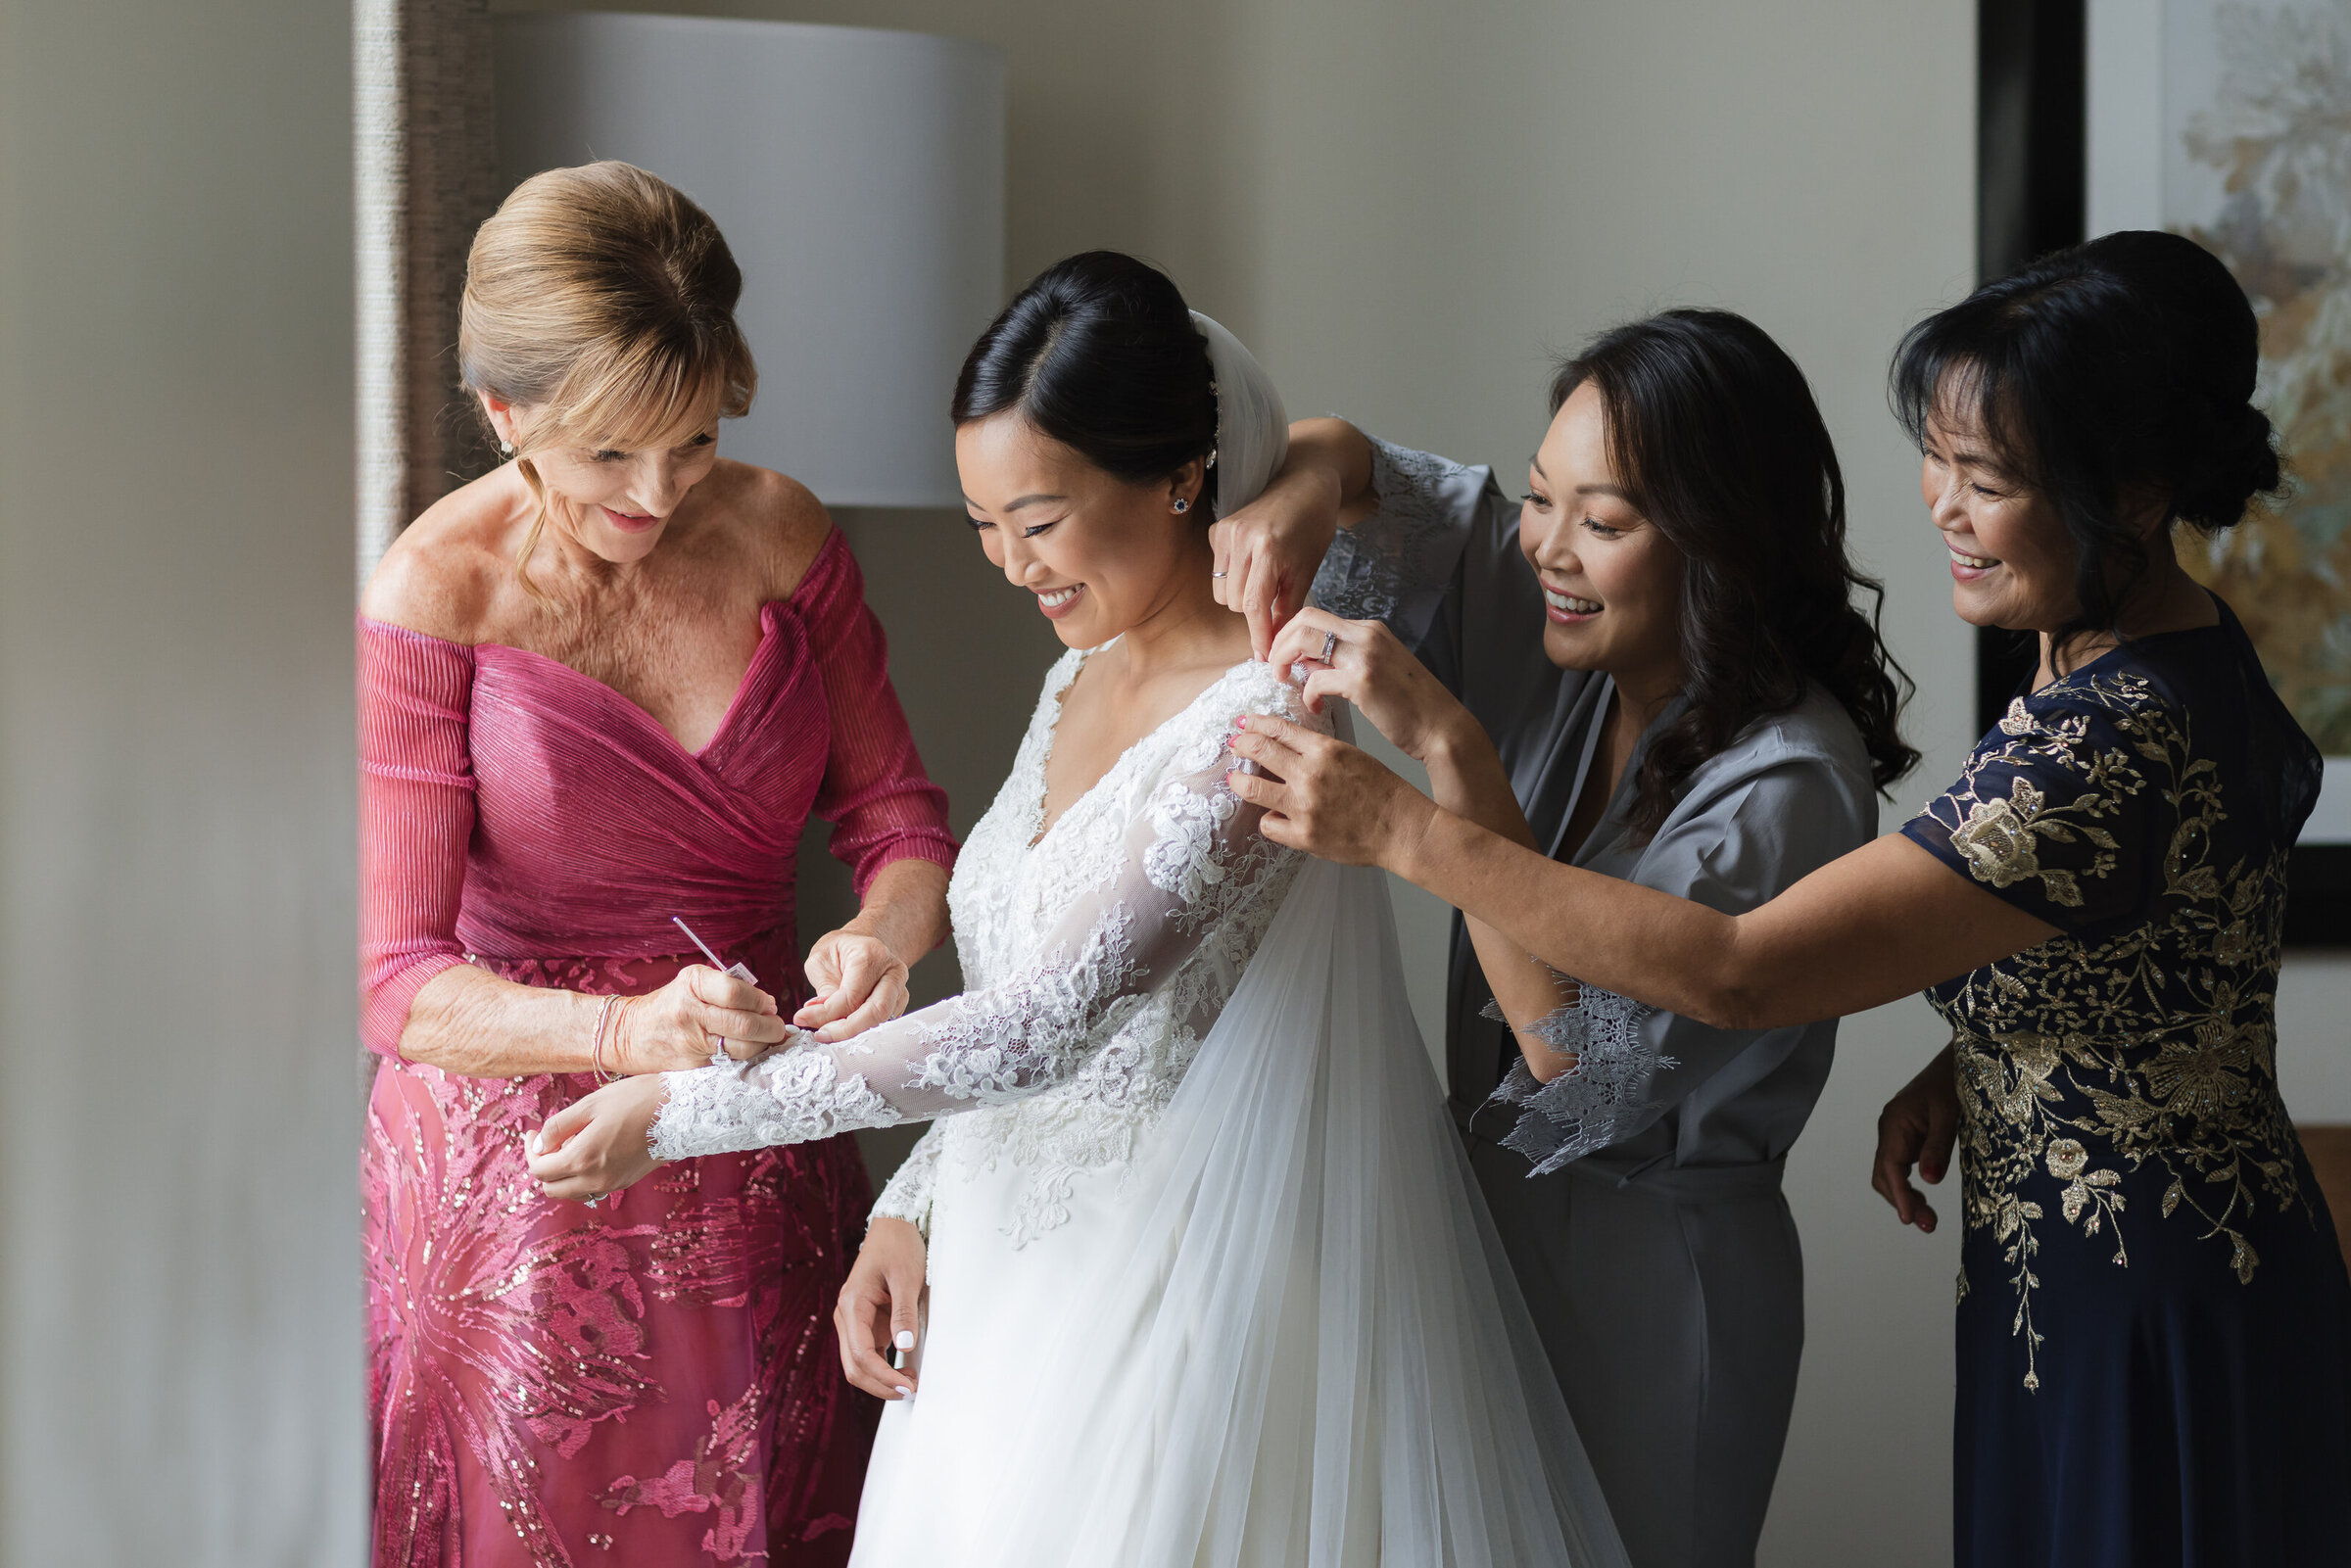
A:
<svg viewBox="0 0 2351 1568">
<path fill-rule="evenodd" d="M 1018 409 L 955 430 L 955 470 L 980 548 L 1072 649 L 1098 649 L 1206 578 L 1201 465 L 1128 484 L 1044 435 Z M 1185 512 L 1176 510 L 1185 503 Z"/>
</svg>

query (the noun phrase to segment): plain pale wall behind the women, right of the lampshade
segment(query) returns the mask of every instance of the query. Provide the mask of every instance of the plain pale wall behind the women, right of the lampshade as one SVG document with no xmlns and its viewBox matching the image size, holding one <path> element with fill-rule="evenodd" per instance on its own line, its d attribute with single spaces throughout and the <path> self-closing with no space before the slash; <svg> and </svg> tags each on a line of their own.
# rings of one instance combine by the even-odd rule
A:
<svg viewBox="0 0 2351 1568">
<path fill-rule="evenodd" d="M 529 9 L 536 0 L 503 0 Z M 625 0 L 651 9 L 647 0 Z M 1547 357 L 1674 303 L 1754 315 L 1810 371 L 1860 555 L 1918 677 L 1930 778 L 1970 741 L 1972 658 L 1886 416 L 1886 357 L 1972 268 L 1975 7 L 1904 0 L 712 0 L 734 16 L 985 38 L 1011 63 L 1009 268 L 1089 244 L 1166 263 L 1295 411 L 1493 461 L 1542 425 Z M 919 534 L 912 520 L 863 529 Z M 900 635 L 907 682 L 957 661 Z M 966 677 L 962 677 L 966 679 Z M 1004 679 L 1016 733 L 1034 684 Z M 969 722 L 969 719 L 966 719 Z M 945 752 L 924 736 L 926 750 Z M 1004 743 L 1009 748 L 1009 741 Z M 990 780 L 992 788 L 992 780 Z M 978 802 L 973 802 L 976 806 Z M 1439 922 L 1422 933 L 1422 992 Z M 1766 1563 L 1949 1556 L 1956 1225 L 1867 1187 L 1878 1105 L 1940 1044 L 1909 1001 L 1846 1025 L 1789 1166 L 1810 1345 Z"/>
</svg>

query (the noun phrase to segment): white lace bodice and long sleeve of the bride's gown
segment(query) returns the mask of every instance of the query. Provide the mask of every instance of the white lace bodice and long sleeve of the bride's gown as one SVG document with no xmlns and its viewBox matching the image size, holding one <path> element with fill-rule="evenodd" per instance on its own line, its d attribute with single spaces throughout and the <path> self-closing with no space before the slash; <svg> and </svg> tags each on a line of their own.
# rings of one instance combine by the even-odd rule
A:
<svg viewBox="0 0 2351 1568">
<path fill-rule="evenodd" d="M 1225 788 L 1232 722 L 1324 724 L 1267 665 L 1234 665 L 1041 830 L 1044 764 L 1081 663 L 1053 665 L 947 889 L 966 992 L 837 1046 L 668 1074 L 656 1154 L 966 1112 L 924 1135 L 875 1213 L 926 1225 L 943 1166 L 1011 1159 L 1032 1173 L 1016 1241 L 1067 1220 L 1084 1173 L 1133 1157 L 1295 877 L 1298 856 Z"/>
</svg>

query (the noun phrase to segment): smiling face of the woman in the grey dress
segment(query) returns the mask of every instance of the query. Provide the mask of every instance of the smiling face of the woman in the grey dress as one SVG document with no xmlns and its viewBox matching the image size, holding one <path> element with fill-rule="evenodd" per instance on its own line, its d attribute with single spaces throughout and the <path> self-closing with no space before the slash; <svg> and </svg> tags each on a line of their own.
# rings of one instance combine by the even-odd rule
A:
<svg viewBox="0 0 2351 1568">
<path fill-rule="evenodd" d="M 1617 686 L 1681 686 L 1681 550 L 1639 512 L 1608 454 L 1608 409 L 1575 388 L 1526 477 L 1519 550 L 1542 578 L 1542 651 L 1561 670 L 1606 670 Z"/>
</svg>

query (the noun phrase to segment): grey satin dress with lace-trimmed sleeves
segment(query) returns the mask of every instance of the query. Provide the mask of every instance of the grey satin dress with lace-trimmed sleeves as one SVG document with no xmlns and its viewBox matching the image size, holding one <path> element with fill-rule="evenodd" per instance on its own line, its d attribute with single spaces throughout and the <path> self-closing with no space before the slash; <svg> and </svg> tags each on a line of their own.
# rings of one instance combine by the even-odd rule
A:
<svg viewBox="0 0 2351 1568">
<path fill-rule="evenodd" d="M 1613 682 L 1545 658 L 1519 505 L 1491 470 L 1373 442 L 1373 489 L 1317 599 L 1385 621 L 1476 715 L 1556 856 Z M 1869 755 L 1817 686 L 1697 769 L 1646 842 L 1625 825 L 1636 771 L 1639 752 L 1570 863 L 1723 912 L 1876 835 Z M 1535 1084 L 1491 999 L 1455 917 L 1451 1110 L 1625 1547 L 1636 1568 L 1751 1563 L 1803 1352 L 1780 1171 L 1836 1020 L 1714 1030 L 1582 987 L 1540 1030 L 1578 1067 Z"/>
</svg>

